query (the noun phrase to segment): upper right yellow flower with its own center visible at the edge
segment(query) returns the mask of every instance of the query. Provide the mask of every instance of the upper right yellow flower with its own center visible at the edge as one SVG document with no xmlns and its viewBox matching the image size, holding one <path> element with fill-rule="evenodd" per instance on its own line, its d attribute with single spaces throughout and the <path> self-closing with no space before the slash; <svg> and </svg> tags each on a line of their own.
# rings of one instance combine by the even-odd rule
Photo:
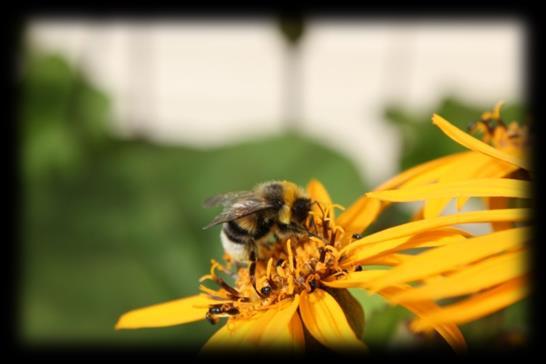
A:
<svg viewBox="0 0 546 364">
<path fill-rule="evenodd" d="M 502 103 L 499 102 L 492 112 L 483 113 L 481 119 L 471 128 L 483 133 L 484 142 L 463 132 L 435 114 L 432 117 L 432 122 L 450 138 L 469 148 L 470 151 L 448 155 L 410 168 L 383 183 L 377 190 L 426 186 L 433 182 L 447 183 L 527 174 L 529 171 L 528 161 L 525 158 L 527 156 L 527 128 L 520 127 L 516 122 L 506 126 L 500 117 L 501 106 Z M 468 198 L 469 196 L 464 195 L 457 197 L 456 207 L 458 210 L 462 209 Z M 449 197 L 428 196 L 423 208 L 415 218 L 438 216 L 450 200 Z M 499 198 L 495 195 L 486 198 L 486 203 L 491 209 L 506 208 L 507 202 L 506 198 Z M 382 208 L 386 205 L 386 203 L 381 204 Z M 510 226 L 505 223 L 493 225 L 498 228 Z"/>
</svg>

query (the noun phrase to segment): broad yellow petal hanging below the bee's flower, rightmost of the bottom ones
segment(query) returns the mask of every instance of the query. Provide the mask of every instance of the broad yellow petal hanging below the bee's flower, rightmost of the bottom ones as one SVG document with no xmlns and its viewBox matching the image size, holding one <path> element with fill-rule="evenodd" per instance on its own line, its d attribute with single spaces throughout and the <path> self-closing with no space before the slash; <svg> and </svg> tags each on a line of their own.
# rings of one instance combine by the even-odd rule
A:
<svg viewBox="0 0 546 364">
<path fill-rule="evenodd" d="M 322 289 L 303 293 L 300 315 L 311 335 L 322 345 L 338 351 L 366 350 L 356 337 L 336 300 Z"/>
</svg>

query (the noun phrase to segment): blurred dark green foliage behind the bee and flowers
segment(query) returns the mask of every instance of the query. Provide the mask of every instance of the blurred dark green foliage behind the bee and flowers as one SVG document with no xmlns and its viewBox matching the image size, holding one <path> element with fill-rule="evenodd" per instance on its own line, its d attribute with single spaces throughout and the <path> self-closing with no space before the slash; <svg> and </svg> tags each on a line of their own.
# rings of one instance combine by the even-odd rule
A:
<svg viewBox="0 0 546 364">
<path fill-rule="evenodd" d="M 128 310 L 198 291 L 210 259 L 222 257 L 218 229 L 201 228 L 217 212 L 201 207 L 205 198 L 271 179 L 305 185 L 317 178 L 347 206 L 373 188 L 345 157 L 293 133 L 210 150 L 120 139 L 109 128 L 108 97 L 80 71 L 57 55 L 29 52 L 24 59 L 18 298 L 26 343 L 199 346 L 218 326 L 113 326 Z M 388 108 L 386 118 L 402 133 L 401 169 L 461 150 L 428 122 L 432 112 L 465 127 L 490 107 L 449 98 L 429 113 Z M 504 110 L 512 120 L 522 109 Z M 393 206 L 370 231 L 408 216 Z M 364 307 L 371 347 L 384 345 L 411 317 L 380 296 L 351 292 Z M 492 316 L 466 325 L 465 335 L 479 340 L 499 325 L 524 331 L 525 307 L 497 314 L 500 324 Z"/>
</svg>

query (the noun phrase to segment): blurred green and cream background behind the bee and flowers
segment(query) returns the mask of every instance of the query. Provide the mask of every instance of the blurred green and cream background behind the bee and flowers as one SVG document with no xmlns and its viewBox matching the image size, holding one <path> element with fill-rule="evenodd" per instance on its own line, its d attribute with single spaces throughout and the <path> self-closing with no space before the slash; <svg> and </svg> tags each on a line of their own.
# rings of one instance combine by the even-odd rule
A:
<svg viewBox="0 0 546 364">
<path fill-rule="evenodd" d="M 461 147 L 507 102 L 522 120 L 526 29 L 514 19 L 31 18 L 18 54 L 23 192 L 19 337 L 28 345 L 198 347 L 207 321 L 116 332 L 122 313 L 198 290 L 222 257 L 212 194 L 318 178 L 348 206 Z M 372 231 L 404 221 L 393 207 Z M 411 315 L 354 292 L 370 346 L 419 340 Z M 526 302 L 462 327 L 514 343 Z"/>
</svg>

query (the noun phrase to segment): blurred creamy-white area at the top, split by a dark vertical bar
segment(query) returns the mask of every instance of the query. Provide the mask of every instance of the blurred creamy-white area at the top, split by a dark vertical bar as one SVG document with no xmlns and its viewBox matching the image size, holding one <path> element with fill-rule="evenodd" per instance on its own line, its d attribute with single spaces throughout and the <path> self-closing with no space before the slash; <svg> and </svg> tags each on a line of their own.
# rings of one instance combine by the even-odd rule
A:
<svg viewBox="0 0 546 364">
<path fill-rule="evenodd" d="M 525 28 L 515 20 L 308 19 L 299 49 L 299 129 L 380 182 L 396 171 L 388 103 L 429 110 L 447 93 L 521 100 Z M 35 19 L 28 41 L 84 68 L 113 99 L 114 128 L 197 146 L 280 132 L 286 45 L 273 19 Z M 299 82 L 298 81 L 298 82 Z"/>
</svg>

